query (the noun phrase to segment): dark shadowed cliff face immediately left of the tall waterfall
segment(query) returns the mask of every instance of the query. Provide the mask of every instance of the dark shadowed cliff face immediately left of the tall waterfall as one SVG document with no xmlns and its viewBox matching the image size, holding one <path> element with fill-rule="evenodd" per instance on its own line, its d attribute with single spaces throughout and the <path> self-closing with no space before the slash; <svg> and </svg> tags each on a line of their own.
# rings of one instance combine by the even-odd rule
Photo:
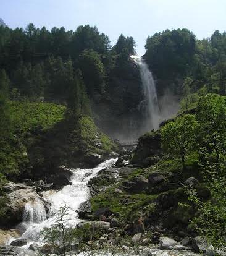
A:
<svg viewBox="0 0 226 256">
<path fill-rule="evenodd" d="M 130 72 L 112 74 L 106 93 L 93 102 L 94 119 L 98 127 L 112 139 L 120 141 L 132 141 L 143 134 L 140 71 L 132 61 L 129 64 Z"/>
</svg>

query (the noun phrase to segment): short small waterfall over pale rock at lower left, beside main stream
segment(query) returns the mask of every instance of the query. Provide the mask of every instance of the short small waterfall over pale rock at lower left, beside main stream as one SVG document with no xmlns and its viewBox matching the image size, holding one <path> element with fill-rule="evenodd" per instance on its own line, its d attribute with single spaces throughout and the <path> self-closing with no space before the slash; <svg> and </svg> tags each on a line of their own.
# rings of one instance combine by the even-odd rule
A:
<svg viewBox="0 0 226 256">
<path fill-rule="evenodd" d="M 34 223 L 41 223 L 44 220 L 46 220 L 46 210 L 43 202 L 38 198 L 32 198 L 25 204 L 23 223 L 30 226 Z"/>
</svg>

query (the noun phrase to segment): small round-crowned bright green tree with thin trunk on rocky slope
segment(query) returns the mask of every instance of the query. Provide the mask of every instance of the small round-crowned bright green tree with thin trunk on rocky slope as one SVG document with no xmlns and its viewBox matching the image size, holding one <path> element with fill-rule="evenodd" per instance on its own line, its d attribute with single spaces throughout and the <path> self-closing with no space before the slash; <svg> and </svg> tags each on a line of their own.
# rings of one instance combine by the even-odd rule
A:
<svg viewBox="0 0 226 256">
<path fill-rule="evenodd" d="M 162 147 L 172 155 L 180 157 L 183 169 L 185 169 L 185 157 L 195 142 L 196 129 L 197 122 L 195 116 L 191 114 L 177 117 L 161 129 Z"/>
</svg>

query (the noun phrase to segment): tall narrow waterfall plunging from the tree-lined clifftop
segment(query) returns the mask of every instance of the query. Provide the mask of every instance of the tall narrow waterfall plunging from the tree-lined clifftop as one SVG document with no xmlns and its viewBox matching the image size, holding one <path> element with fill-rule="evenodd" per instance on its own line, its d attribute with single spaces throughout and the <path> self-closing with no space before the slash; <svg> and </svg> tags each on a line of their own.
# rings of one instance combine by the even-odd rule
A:
<svg viewBox="0 0 226 256">
<path fill-rule="evenodd" d="M 140 68 L 141 81 L 143 86 L 144 100 L 140 103 L 140 109 L 144 114 L 144 132 L 159 128 L 159 105 L 157 100 L 156 85 L 148 65 L 142 57 L 131 56 L 133 61 Z"/>
</svg>

